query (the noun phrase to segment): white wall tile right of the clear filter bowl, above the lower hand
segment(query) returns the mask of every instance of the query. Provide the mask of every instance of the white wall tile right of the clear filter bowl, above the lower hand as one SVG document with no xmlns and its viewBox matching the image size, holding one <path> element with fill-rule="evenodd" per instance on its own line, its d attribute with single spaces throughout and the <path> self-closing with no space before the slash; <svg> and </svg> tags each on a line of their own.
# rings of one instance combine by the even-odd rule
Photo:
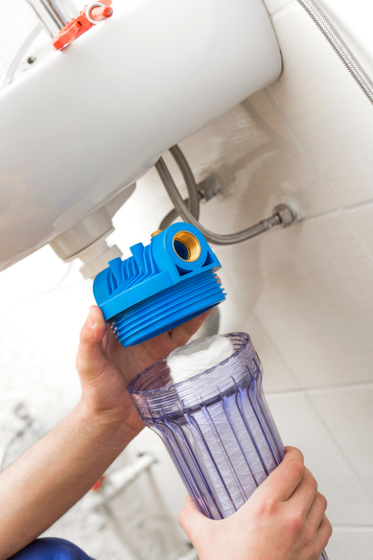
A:
<svg viewBox="0 0 373 560">
<path fill-rule="evenodd" d="M 373 501 L 320 420 L 307 395 L 270 395 L 268 403 L 285 445 L 301 449 L 328 500 L 332 524 L 370 525 Z M 330 560 L 333 560 L 332 558 Z"/>
</svg>

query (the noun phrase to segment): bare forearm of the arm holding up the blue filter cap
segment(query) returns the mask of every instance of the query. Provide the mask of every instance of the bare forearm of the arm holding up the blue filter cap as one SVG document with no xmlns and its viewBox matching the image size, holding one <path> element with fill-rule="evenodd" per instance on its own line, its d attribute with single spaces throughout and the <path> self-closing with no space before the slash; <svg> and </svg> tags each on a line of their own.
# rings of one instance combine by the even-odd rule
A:
<svg viewBox="0 0 373 560">
<path fill-rule="evenodd" d="M 118 420 L 80 403 L 0 474 L 0 560 L 59 519 L 95 484 L 132 439 Z"/>
</svg>

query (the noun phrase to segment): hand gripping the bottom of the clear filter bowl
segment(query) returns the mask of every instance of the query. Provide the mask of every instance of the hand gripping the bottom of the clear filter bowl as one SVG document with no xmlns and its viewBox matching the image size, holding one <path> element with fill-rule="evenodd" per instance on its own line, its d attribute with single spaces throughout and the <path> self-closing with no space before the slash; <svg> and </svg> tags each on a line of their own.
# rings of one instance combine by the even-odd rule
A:
<svg viewBox="0 0 373 560">
<path fill-rule="evenodd" d="M 318 560 L 332 534 L 326 506 L 302 453 L 287 447 L 282 463 L 234 515 L 212 521 L 188 498 L 179 523 L 200 560 Z"/>
</svg>

